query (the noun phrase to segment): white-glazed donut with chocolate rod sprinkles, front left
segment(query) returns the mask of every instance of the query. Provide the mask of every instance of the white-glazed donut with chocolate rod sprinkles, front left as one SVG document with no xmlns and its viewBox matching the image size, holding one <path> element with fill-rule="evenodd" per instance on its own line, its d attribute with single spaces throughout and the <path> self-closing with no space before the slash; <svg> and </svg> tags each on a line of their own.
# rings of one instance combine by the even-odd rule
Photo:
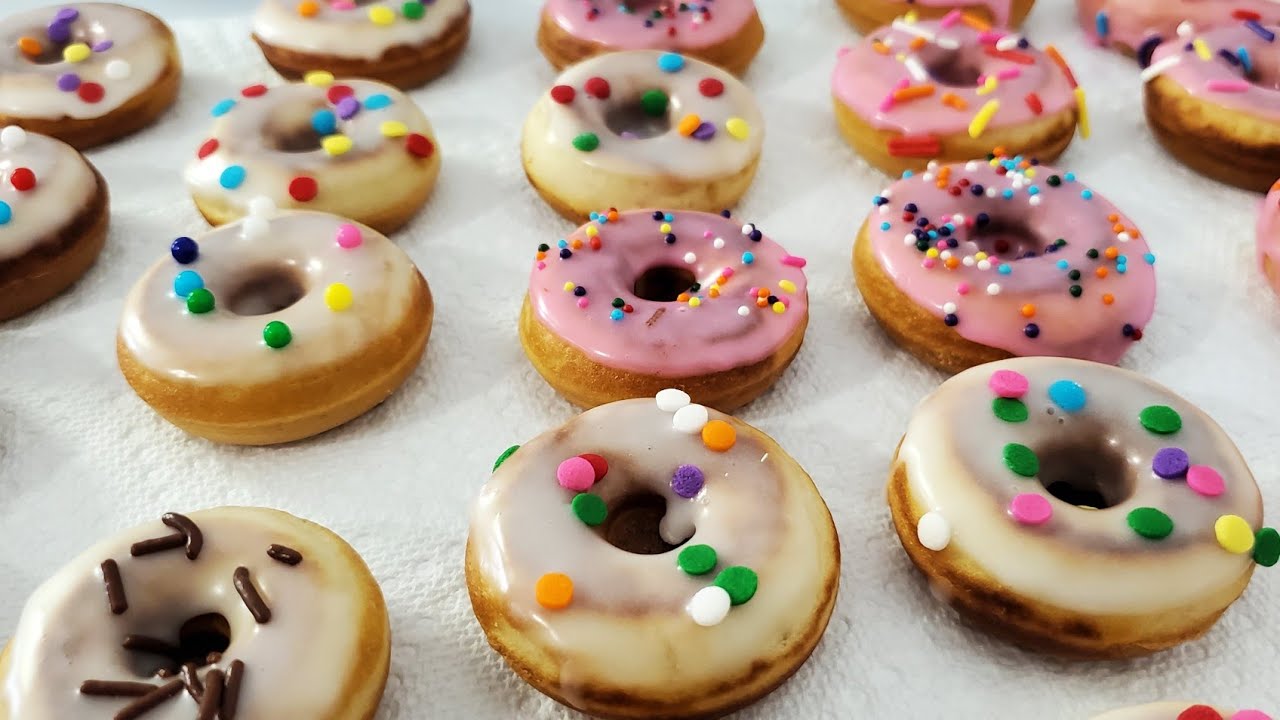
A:
<svg viewBox="0 0 1280 720">
<path fill-rule="evenodd" d="M 0 653 L 0 720 L 367 720 L 390 665 L 378 582 L 279 510 L 168 512 L 27 601 Z"/>
</svg>

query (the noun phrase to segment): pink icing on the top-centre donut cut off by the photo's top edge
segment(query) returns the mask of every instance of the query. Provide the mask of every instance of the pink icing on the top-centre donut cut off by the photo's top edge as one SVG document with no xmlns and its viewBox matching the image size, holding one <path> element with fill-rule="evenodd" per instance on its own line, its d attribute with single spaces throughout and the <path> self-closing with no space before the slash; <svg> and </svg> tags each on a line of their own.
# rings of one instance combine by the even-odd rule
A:
<svg viewBox="0 0 1280 720">
<path fill-rule="evenodd" d="M 544 12 L 564 32 L 613 50 L 692 50 L 718 45 L 755 17 L 751 0 L 547 0 Z M 622 12 L 623 6 L 632 9 Z M 662 18 L 654 19 L 658 10 Z M 652 20 L 645 27 L 645 20 Z"/>
</svg>

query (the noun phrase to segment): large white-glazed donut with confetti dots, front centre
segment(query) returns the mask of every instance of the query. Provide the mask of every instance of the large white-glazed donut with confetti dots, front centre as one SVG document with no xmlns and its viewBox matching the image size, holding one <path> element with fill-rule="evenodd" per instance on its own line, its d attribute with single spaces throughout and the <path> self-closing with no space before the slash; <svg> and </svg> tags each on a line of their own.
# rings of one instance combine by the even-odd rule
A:
<svg viewBox="0 0 1280 720">
<path fill-rule="evenodd" d="M 494 465 L 471 607 L 538 691 L 593 717 L 721 717 L 822 638 L 840 542 L 809 475 L 678 389 L 590 410 Z"/>
</svg>

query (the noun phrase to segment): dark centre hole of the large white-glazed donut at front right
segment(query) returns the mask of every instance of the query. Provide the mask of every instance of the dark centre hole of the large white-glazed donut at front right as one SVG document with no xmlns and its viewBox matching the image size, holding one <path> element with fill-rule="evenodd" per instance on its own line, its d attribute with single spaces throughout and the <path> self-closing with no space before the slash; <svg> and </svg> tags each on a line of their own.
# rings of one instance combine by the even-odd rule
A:
<svg viewBox="0 0 1280 720">
<path fill-rule="evenodd" d="M 1037 456 L 1041 484 L 1062 502 L 1106 510 L 1133 496 L 1134 480 L 1124 455 L 1101 438 L 1048 446 Z"/>
</svg>

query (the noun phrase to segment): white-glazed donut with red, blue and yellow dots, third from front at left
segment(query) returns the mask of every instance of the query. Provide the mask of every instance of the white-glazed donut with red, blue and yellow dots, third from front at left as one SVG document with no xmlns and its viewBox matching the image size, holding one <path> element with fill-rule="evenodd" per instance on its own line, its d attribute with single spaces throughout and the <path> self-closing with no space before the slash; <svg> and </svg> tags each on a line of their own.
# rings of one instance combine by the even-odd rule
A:
<svg viewBox="0 0 1280 720">
<path fill-rule="evenodd" d="M 196 208 L 220 225 L 266 196 L 390 233 L 426 202 L 440 174 L 431 123 L 380 82 L 251 85 L 214 105 L 214 127 L 186 170 Z"/>
</svg>

